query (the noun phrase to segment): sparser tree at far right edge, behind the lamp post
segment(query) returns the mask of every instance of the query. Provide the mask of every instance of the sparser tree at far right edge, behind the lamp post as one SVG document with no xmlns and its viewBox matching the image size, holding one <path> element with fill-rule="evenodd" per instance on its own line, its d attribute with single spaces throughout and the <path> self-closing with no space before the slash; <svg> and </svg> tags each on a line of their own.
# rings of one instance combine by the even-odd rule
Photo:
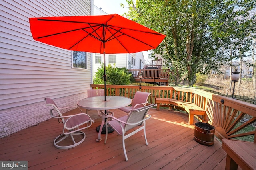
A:
<svg viewBox="0 0 256 170">
<path fill-rule="evenodd" d="M 223 55 L 228 55 L 230 58 L 230 72 L 233 66 L 232 60 L 239 59 L 240 61 L 240 79 L 238 81 L 238 92 L 241 87 L 242 67 L 244 64 L 253 66 L 250 62 L 244 60 L 244 57 L 252 57 L 254 53 L 253 41 L 256 37 L 256 2 L 253 0 L 241 1 L 234 0 L 232 3 L 224 4 L 224 11 L 220 11 L 220 15 L 214 18 L 214 23 L 220 23 L 218 27 L 214 27 L 213 36 L 218 37 L 220 47 L 224 49 Z M 213 24 L 215 25 L 215 24 Z M 231 53 L 230 53 L 231 51 Z M 254 88 L 254 90 L 256 90 Z"/>
</svg>

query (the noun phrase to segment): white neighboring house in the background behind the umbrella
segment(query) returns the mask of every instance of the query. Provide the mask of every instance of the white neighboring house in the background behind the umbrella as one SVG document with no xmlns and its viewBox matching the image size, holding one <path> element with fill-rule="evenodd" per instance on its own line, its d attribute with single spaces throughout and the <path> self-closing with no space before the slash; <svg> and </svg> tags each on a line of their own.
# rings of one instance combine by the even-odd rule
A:
<svg viewBox="0 0 256 170">
<path fill-rule="evenodd" d="M 94 15 L 108 15 L 106 12 L 94 5 Z M 145 59 L 142 52 L 132 54 L 105 54 L 106 65 L 109 63 L 116 67 L 126 67 L 127 69 L 143 69 Z M 103 54 L 93 53 L 93 75 L 100 67 L 100 63 L 103 63 Z"/>
</svg>

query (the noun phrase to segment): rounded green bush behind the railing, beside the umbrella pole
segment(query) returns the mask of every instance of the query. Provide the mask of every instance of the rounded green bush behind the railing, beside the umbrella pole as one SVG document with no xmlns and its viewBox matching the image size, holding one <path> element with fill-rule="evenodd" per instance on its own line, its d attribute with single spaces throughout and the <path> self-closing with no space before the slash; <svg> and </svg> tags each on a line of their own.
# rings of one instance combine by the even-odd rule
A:
<svg viewBox="0 0 256 170">
<path fill-rule="evenodd" d="M 93 77 L 94 84 L 104 84 L 104 64 L 101 63 L 98 71 L 96 72 L 95 76 Z M 128 85 L 132 80 L 132 74 L 128 72 L 126 68 L 116 68 L 108 64 L 106 66 L 106 75 L 107 80 L 106 84 L 116 84 L 116 85 Z"/>
</svg>

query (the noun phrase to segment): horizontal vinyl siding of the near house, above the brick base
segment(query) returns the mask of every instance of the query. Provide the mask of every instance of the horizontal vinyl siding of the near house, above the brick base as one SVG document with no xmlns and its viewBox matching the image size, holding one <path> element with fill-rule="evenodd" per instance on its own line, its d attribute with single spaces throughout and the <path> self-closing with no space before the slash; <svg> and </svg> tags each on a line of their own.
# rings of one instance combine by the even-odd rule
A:
<svg viewBox="0 0 256 170">
<path fill-rule="evenodd" d="M 88 69 L 72 69 L 71 51 L 34 41 L 28 18 L 90 15 L 91 0 L 1 0 L 0 7 L 0 109 L 90 88 L 91 53 Z"/>
</svg>

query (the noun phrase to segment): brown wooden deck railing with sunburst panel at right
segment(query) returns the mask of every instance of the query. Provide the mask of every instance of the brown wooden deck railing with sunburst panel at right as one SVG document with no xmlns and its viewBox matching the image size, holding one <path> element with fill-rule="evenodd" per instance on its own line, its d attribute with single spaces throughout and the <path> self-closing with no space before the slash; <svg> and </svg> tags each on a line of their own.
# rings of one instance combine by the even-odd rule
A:
<svg viewBox="0 0 256 170">
<path fill-rule="evenodd" d="M 104 85 L 92 84 L 92 88 L 104 88 Z M 141 87 L 141 89 L 140 89 Z M 150 92 L 149 103 L 155 103 L 155 98 L 175 98 L 192 102 L 206 111 L 206 116 L 199 117 L 199 121 L 207 122 L 215 127 L 215 135 L 219 139 L 238 139 L 237 137 L 250 136 L 256 140 L 255 126 L 256 105 L 236 99 L 205 92 L 196 88 L 169 87 L 169 86 L 122 86 L 107 85 L 107 95 L 126 96 L 133 98 L 136 91 Z M 251 118 L 242 122 L 245 115 Z M 247 116 L 248 117 L 248 116 Z M 248 131 L 248 126 L 253 130 Z M 246 129 L 246 130 L 245 130 Z"/>
</svg>

